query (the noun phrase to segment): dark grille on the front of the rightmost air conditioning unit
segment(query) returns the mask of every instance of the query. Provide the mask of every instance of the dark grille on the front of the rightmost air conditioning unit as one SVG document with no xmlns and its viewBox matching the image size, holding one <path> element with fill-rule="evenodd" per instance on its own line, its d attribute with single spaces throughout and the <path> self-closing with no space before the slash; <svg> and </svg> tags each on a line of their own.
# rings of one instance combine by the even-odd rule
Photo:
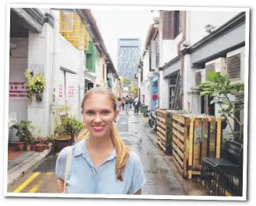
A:
<svg viewBox="0 0 256 206">
<path fill-rule="evenodd" d="M 241 56 L 233 55 L 227 58 L 227 75 L 229 79 L 240 79 Z"/>
</svg>

